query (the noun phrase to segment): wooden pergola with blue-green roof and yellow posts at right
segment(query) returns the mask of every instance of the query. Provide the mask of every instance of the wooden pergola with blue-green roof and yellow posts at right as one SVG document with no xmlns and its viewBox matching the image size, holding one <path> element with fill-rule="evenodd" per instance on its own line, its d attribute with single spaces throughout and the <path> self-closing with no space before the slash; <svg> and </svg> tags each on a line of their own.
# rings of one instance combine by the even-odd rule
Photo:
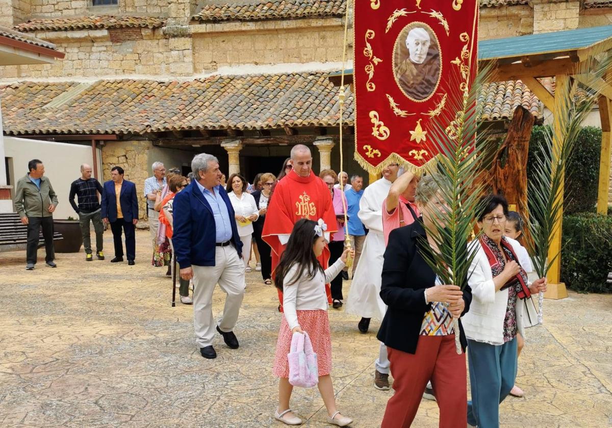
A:
<svg viewBox="0 0 612 428">
<path fill-rule="evenodd" d="M 561 126 L 558 118 L 554 116 L 557 103 L 561 98 L 556 95 L 569 94 L 577 82 L 585 86 L 593 85 L 594 82 L 589 76 L 578 75 L 577 70 L 580 63 L 588 59 L 590 54 L 602 51 L 612 51 L 612 25 L 481 40 L 478 43 L 479 64 L 481 66 L 491 65 L 496 70 L 492 81 L 523 81 L 553 115 L 554 135 L 559 135 L 557 130 Z M 353 84 L 353 70 L 345 70 L 344 73 L 345 84 Z M 341 72 L 330 74 L 330 81 L 339 86 L 340 75 Z M 554 94 L 551 94 L 550 90 L 538 80 L 541 78 L 555 79 Z M 596 83 L 601 94 L 599 116 L 602 125 L 597 213 L 607 215 L 612 141 L 612 86 L 606 84 L 602 79 Z M 521 120 L 517 120 L 517 125 L 521 125 Z M 528 125 L 529 133 L 531 133 L 532 125 L 531 121 Z M 554 139 L 553 144 L 554 147 L 559 147 L 561 141 Z M 523 196 L 526 198 L 526 194 Z M 559 197 L 563 197 L 562 192 Z M 561 233 L 562 218 L 559 218 L 549 254 L 558 254 L 561 250 Z M 561 282 L 560 277 L 561 257 L 559 256 L 548 272 L 548 291 L 545 297 L 553 299 L 567 297 L 565 284 Z"/>
</svg>

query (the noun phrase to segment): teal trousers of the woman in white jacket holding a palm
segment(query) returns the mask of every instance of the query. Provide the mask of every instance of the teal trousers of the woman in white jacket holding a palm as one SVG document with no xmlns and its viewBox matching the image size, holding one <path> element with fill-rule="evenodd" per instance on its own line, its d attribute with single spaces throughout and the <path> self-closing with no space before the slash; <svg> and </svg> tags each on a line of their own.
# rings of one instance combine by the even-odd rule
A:
<svg viewBox="0 0 612 428">
<path fill-rule="evenodd" d="M 499 403 L 510 394 L 517 378 L 517 338 L 503 345 L 468 339 L 468 424 L 499 428 Z"/>
</svg>

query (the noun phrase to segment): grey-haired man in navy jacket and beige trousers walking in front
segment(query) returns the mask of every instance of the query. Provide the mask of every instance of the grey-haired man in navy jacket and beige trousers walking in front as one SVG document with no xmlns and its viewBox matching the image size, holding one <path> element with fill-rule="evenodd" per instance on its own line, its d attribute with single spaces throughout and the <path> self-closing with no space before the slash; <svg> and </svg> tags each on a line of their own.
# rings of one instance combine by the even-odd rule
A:
<svg viewBox="0 0 612 428">
<path fill-rule="evenodd" d="M 194 179 L 174 196 L 172 243 L 181 278 L 193 278 L 193 327 L 204 358 L 217 358 L 212 347 L 215 327 L 231 349 L 238 348 L 233 333 L 244 297 L 242 242 L 230 197 L 220 185 L 217 158 L 200 153 L 193 158 Z M 223 316 L 212 316 L 212 292 L 219 284 L 226 293 Z"/>
</svg>

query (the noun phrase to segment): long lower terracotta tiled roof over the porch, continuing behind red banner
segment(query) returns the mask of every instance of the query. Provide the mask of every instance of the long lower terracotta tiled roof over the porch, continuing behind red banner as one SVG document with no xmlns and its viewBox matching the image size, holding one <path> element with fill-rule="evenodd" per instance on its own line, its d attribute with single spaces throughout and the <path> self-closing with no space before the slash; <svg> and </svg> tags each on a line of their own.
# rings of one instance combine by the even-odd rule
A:
<svg viewBox="0 0 612 428">
<path fill-rule="evenodd" d="M 97 81 L 58 108 L 45 108 L 79 83 L 23 82 L 0 86 L 4 131 L 144 133 L 170 130 L 257 130 L 338 124 L 337 90 L 326 73 L 211 76 L 191 81 Z M 521 83 L 491 84 L 482 95 L 483 119 L 507 119 L 520 104 L 541 116 L 540 103 Z M 353 125 L 346 89 L 345 122 Z"/>
</svg>

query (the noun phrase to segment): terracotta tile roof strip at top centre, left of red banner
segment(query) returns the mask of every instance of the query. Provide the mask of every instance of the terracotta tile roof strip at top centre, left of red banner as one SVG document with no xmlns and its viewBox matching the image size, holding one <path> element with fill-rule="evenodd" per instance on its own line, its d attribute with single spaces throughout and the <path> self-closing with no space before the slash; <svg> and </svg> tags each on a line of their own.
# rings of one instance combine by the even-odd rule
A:
<svg viewBox="0 0 612 428">
<path fill-rule="evenodd" d="M 204 4 L 192 20 L 220 22 L 341 17 L 345 11 L 345 0 L 262 0 L 246 4 Z"/>
</svg>

